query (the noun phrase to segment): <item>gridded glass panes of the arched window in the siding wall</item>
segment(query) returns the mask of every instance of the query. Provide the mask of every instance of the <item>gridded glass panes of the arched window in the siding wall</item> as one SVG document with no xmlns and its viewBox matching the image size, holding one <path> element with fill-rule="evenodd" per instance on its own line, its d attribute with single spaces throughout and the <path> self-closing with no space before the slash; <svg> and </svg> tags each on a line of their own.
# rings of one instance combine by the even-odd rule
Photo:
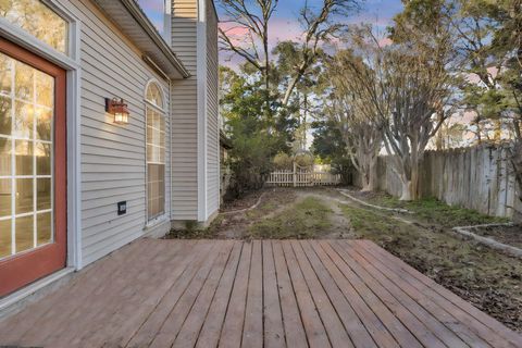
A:
<svg viewBox="0 0 522 348">
<path fill-rule="evenodd" d="M 156 83 L 146 91 L 147 113 L 147 215 L 165 212 L 165 113 L 163 95 Z"/>
</svg>

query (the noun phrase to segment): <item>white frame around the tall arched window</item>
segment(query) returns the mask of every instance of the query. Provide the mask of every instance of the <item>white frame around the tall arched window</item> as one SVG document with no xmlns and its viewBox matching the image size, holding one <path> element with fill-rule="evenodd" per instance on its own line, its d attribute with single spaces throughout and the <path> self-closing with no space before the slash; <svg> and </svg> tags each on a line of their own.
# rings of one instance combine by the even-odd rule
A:
<svg viewBox="0 0 522 348">
<path fill-rule="evenodd" d="M 160 90 L 160 94 L 161 94 L 161 101 L 162 101 L 162 105 L 161 108 L 151 103 L 148 99 L 147 99 L 147 91 L 149 90 L 149 87 L 151 85 L 156 85 L 158 87 L 158 89 Z M 167 177 L 166 177 L 166 166 L 170 165 L 170 163 L 167 162 L 167 153 L 166 153 L 166 149 L 167 147 L 170 146 L 170 140 L 167 141 L 167 139 L 170 139 L 169 137 L 169 133 L 167 133 L 167 126 L 166 126 L 166 115 L 167 115 L 167 110 L 166 110 L 166 99 L 165 99 L 165 91 L 163 90 L 160 82 L 156 78 L 151 78 L 147 82 L 146 86 L 145 86 L 145 94 L 144 94 L 144 101 L 145 101 L 145 221 L 146 221 L 146 229 L 149 229 L 156 225 L 159 225 L 163 222 L 165 222 L 166 220 L 169 220 L 169 211 L 167 211 L 167 197 L 166 197 L 166 181 L 167 181 Z M 148 157 L 148 138 L 147 138 L 147 127 L 148 127 L 148 113 L 147 113 L 147 109 L 150 108 L 152 110 L 154 110 L 156 112 L 159 112 L 163 115 L 164 117 L 164 123 L 165 123 L 165 164 L 164 164 L 164 175 L 163 175 L 163 179 L 164 179 L 164 194 L 163 194 L 163 198 L 164 198 L 164 202 L 163 202 L 163 214 L 161 215 L 158 215 L 156 217 L 152 217 L 152 219 L 149 219 L 149 161 L 147 159 Z"/>
</svg>

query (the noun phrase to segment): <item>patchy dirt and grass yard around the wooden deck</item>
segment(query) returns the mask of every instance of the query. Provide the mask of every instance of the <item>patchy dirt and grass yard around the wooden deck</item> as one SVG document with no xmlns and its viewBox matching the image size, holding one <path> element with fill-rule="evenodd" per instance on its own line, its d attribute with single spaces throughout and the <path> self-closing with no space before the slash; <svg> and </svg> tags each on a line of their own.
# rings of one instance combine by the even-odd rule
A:
<svg viewBox="0 0 522 348">
<path fill-rule="evenodd" d="M 505 219 L 430 199 L 405 203 L 382 194 L 349 194 L 372 204 L 411 213 L 369 208 L 335 188 L 272 188 L 226 204 L 204 231 L 173 232 L 172 237 L 370 239 L 522 332 L 522 261 L 451 232 L 453 226 L 505 223 Z M 510 240 L 518 238 L 513 231 Z"/>
</svg>

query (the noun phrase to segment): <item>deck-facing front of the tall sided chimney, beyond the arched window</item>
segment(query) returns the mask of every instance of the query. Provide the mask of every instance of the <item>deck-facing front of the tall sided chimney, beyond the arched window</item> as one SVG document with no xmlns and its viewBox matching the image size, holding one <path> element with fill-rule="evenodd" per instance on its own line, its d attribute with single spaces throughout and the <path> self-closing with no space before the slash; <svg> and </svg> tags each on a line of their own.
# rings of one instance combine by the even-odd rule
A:
<svg viewBox="0 0 522 348">
<path fill-rule="evenodd" d="M 172 85 L 172 219 L 198 219 L 197 0 L 172 1 L 172 48 L 191 77 Z"/>
</svg>

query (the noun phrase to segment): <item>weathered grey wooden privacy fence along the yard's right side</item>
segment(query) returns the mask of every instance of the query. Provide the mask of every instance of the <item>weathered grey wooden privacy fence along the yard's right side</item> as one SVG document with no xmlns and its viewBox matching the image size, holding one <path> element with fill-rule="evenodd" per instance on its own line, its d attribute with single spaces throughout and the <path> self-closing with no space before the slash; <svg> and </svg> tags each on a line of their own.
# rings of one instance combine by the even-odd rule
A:
<svg viewBox="0 0 522 348">
<path fill-rule="evenodd" d="M 477 210 L 493 216 L 513 216 L 520 210 L 508 146 L 483 145 L 444 151 L 426 151 L 420 170 L 421 197 L 435 197 L 450 206 Z M 400 178 L 393 159 L 378 159 L 378 189 L 399 197 Z M 356 175 L 356 185 L 360 177 Z"/>
</svg>

